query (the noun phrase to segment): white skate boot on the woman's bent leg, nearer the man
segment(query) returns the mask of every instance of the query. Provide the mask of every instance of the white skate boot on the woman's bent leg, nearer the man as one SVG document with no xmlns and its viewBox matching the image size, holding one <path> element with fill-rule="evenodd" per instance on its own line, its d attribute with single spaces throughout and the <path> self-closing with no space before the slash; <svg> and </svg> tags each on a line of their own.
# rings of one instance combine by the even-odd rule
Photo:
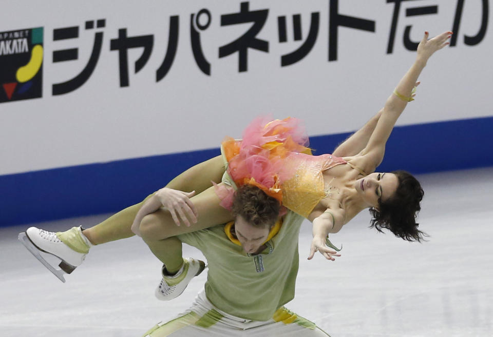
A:
<svg viewBox="0 0 493 337">
<path fill-rule="evenodd" d="M 183 266 L 173 276 L 165 275 L 163 266 L 163 278 L 156 288 L 155 295 L 158 300 L 169 301 L 177 298 L 185 290 L 188 283 L 206 268 L 205 263 L 200 260 L 183 259 Z"/>
</svg>

